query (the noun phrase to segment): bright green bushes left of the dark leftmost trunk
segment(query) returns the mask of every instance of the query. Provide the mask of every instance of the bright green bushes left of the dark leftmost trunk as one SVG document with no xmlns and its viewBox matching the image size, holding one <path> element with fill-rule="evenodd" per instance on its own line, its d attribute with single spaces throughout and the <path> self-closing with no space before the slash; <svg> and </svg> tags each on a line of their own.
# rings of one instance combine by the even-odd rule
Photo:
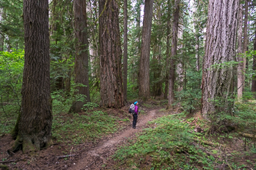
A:
<svg viewBox="0 0 256 170">
<path fill-rule="evenodd" d="M 15 126 L 22 95 L 24 51 L 0 51 L 0 134 Z"/>
</svg>

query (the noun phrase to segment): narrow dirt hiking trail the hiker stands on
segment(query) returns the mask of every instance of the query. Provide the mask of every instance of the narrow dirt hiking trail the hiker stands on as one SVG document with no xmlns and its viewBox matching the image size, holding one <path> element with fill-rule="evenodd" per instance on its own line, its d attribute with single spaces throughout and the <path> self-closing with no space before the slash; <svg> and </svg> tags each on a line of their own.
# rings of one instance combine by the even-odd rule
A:
<svg viewBox="0 0 256 170">
<path fill-rule="evenodd" d="M 76 164 L 71 165 L 68 169 L 76 170 L 89 170 L 89 169 L 105 169 L 102 165 L 105 165 L 109 156 L 114 154 L 118 148 L 118 144 L 124 143 L 128 138 L 134 136 L 138 132 L 142 132 L 142 129 L 148 123 L 155 119 L 157 110 L 151 110 L 147 115 L 138 115 L 137 128 L 127 128 L 123 132 L 118 133 L 111 139 L 99 142 L 93 149 L 83 152 L 80 159 Z"/>
</svg>

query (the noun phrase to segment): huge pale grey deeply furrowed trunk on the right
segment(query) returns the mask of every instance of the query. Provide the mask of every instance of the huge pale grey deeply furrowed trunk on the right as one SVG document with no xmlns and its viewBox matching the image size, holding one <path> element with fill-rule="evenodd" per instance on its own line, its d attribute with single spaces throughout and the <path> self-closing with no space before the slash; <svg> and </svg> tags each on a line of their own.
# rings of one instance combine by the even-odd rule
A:
<svg viewBox="0 0 256 170">
<path fill-rule="evenodd" d="M 201 115 L 210 121 L 218 113 L 229 113 L 235 57 L 238 0 L 209 0 L 208 25 L 202 75 Z"/>
</svg>

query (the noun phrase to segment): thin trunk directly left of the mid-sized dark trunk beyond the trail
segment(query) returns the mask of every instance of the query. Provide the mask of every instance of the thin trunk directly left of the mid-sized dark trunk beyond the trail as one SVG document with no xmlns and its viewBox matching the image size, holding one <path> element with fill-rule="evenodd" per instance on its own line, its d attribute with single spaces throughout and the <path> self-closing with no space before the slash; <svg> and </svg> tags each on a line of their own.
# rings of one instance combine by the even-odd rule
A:
<svg viewBox="0 0 256 170">
<path fill-rule="evenodd" d="M 168 97 L 168 79 L 170 69 L 170 37 L 171 37 L 171 1 L 168 0 L 168 13 L 167 13 L 167 30 L 166 30 L 166 73 L 165 73 L 165 93 L 164 99 Z"/>
</svg>

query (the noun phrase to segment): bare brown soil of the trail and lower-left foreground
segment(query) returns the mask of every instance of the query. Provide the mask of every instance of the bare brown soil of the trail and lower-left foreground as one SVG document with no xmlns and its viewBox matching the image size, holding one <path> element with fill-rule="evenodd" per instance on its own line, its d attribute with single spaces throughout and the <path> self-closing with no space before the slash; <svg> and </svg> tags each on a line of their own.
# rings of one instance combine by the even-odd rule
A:
<svg viewBox="0 0 256 170">
<path fill-rule="evenodd" d="M 81 145 L 72 145 L 71 142 L 55 143 L 47 149 L 30 155 L 22 154 L 22 151 L 9 155 L 6 151 L 13 140 L 9 135 L 0 136 L 0 169 L 109 169 L 108 167 L 115 163 L 111 160 L 111 155 L 118 145 L 128 142 L 128 139 L 141 132 L 148 121 L 161 116 L 156 109 L 145 111 L 145 115 L 138 116 L 137 129 L 131 128 L 130 115 L 130 123 L 115 134 Z"/>
</svg>

